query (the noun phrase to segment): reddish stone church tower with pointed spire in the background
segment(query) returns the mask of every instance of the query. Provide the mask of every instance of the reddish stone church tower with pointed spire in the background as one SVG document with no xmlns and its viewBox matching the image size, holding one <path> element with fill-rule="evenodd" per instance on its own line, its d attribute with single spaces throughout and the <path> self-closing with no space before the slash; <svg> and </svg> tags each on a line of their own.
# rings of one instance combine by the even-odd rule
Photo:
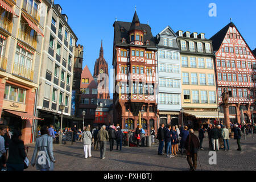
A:
<svg viewBox="0 0 256 182">
<path fill-rule="evenodd" d="M 97 80 L 98 99 L 109 99 L 109 71 L 108 63 L 104 59 L 102 40 L 100 57 L 98 57 L 98 59 L 95 62 L 93 77 L 95 80 Z"/>
</svg>

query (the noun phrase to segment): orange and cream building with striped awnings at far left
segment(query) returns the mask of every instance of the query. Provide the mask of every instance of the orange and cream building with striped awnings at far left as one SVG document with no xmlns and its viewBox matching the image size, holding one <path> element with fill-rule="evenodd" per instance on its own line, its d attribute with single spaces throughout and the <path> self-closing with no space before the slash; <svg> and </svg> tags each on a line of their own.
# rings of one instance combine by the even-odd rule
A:
<svg viewBox="0 0 256 182">
<path fill-rule="evenodd" d="M 32 142 L 49 1 L 0 1 L 0 116 Z"/>
</svg>

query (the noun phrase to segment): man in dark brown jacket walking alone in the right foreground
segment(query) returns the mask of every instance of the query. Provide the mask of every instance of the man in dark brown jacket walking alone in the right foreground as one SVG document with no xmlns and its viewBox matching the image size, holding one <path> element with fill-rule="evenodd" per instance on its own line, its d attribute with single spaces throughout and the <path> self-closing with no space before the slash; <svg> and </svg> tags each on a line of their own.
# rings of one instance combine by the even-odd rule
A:
<svg viewBox="0 0 256 182">
<path fill-rule="evenodd" d="M 185 149 L 187 150 L 187 161 L 190 167 L 190 171 L 195 171 L 197 167 L 197 151 L 199 150 L 199 139 L 194 134 L 193 129 L 189 129 L 189 135 L 185 142 Z M 193 163 L 191 161 L 193 160 Z"/>
</svg>

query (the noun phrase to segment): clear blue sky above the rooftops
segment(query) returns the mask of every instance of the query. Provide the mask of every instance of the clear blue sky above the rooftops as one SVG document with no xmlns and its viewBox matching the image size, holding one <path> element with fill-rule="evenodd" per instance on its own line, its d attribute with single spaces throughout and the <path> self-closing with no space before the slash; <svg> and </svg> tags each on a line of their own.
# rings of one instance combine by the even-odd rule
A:
<svg viewBox="0 0 256 182">
<path fill-rule="evenodd" d="M 210 3 L 217 6 L 217 16 L 210 17 Z M 103 40 L 104 57 L 112 68 L 113 23 L 131 22 L 135 6 L 141 23 L 147 23 L 155 36 L 168 25 L 174 30 L 204 32 L 210 38 L 226 24 L 236 24 L 249 47 L 256 48 L 256 1 L 255 0 L 197 0 L 197 1 L 91 1 L 55 0 L 77 35 L 77 44 L 84 46 L 84 67 L 93 68 Z"/>
</svg>

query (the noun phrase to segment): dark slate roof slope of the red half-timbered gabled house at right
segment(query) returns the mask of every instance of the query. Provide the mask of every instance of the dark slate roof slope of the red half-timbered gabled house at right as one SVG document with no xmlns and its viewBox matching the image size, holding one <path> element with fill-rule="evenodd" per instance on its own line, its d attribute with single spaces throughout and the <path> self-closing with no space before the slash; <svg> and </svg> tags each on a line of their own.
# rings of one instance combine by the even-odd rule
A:
<svg viewBox="0 0 256 182">
<path fill-rule="evenodd" d="M 221 43 L 223 42 L 226 33 L 229 30 L 229 27 L 236 27 L 233 22 L 227 24 L 224 28 L 217 32 L 217 34 L 213 35 L 210 40 L 212 40 L 213 51 L 218 51 L 220 49 Z M 241 35 L 241 34 L 240 34 Z"/>
</svg>

